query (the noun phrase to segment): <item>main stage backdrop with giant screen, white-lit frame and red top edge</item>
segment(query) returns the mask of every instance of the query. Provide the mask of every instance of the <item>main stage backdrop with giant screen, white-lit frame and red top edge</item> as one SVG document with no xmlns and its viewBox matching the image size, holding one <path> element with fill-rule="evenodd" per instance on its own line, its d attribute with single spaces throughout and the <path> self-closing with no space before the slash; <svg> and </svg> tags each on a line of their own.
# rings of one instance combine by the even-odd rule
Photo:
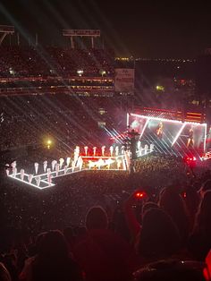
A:
<svg viewBox="0 0 211 281">
<path fill-rule="evenodd" d="M 174 119 L 173 119 L 174 118 Z M 207 123 L 195 119 L 181 119 L 161 112 L 142 112 L 127 115 L 127 125 L 139 133 L 142 145 L 155 145 L 155 150 L 166 155 L 201 156 L 206 150 Z M 191 120 L 191 121 L 190 121 Z"/>
</svg>

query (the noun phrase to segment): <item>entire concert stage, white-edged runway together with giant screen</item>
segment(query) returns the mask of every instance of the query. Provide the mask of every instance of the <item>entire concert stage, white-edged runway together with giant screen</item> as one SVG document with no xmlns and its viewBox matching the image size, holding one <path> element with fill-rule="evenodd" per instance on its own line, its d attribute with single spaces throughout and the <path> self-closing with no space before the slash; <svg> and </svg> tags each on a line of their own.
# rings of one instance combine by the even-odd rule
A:
<svg viewBox="0 0 211 281">
<path fill-rule="evenodd" d="M 191 118 L 187 116 L 184 119 L 178 112 L 161 110 L 146 110 L 141 114 L 128 113 L 129 131 L 121 134 L 123 145 L 118 143 L 118 136 L 115 136 L 110 147 L 76 146 L 70 157 L 61 156 L 57 160 L 36 162 L 32 170 L 21 168 L 14 161 L 11 167 L 6 169 L 6 173 L 13 180 L 42 190 L 55 186 L 54 179 L 57 177 L 81 171 L 130 172 L 133 159 L 145 157 L 153 151 L 169 157 L 173 155 L 203 161 L 203 156 L 206 155 L 207 123 L 201 122 L 199 114 L 191 114 Z"/>
</svg>

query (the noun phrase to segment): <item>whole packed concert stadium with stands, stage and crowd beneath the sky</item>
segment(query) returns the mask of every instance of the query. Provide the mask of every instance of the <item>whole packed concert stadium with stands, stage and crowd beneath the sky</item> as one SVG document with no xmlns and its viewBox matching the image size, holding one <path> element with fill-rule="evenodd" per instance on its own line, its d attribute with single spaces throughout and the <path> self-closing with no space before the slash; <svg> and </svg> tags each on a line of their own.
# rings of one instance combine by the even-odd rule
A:
<svg viewBox="0 0 211 281">
<path fill-rule="evenodd" d="M 205 260 L 211 248 L 206 217 L 210 121 L 205 111 L 193 104 L 179 106 L 180 98 L 170 107 L 158 85 L 158 101 L 149 102 L 147 88 L 139 87 L 146 61 L 139 64 L 96 47 L 100 30 L 61 30 L 67 47 L 7 46 L 4 38 L 15 30 L 2 25 L 0 32 L 0 248 L 5 267 L 17 244 L 28 247 L 26 260 L 39 254 L 38 234 L 57 243 L 60 232 L 81 268 L 75 279 L 63 280 L 129 281 L 148 262 Z M 78 47 L 78 38 L 89 39 L 89 46 Z M 174 83 L 181 87 L 175 78 Z M 205 200 L 206 210 L 200 209 Z M 201 236 L 195 217 L 204 224 Z M 198 249 L 199 243 L 203 247 Z M 83 252 L 88 244 L 91 250 Z M 109 263 L 113 254 L 119 263 Z M 12 280 L 39 280 L 27 277 L 24 259 L 11 269 L 17 277 Z M 198 262 L 196 271 L 201 268 Z"/>
</svg>

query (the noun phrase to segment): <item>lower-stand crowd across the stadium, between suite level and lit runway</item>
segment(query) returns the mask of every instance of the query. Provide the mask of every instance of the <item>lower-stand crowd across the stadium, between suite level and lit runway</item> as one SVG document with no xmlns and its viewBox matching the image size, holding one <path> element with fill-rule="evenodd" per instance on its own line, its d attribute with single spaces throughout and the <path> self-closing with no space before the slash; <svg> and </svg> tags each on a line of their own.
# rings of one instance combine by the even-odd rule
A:
<svg viewBox="0 0 211 281">
<path fill-rule="evenodd" d="M 120 130 L 124 127 L 123 106 L 119 98 L 77 98 L 65 94 L 1 98 L 0 150 L 36 144 L 40 147 L 48 137 L 63 151 L 75 145 L 100 146 L 107 139 L 101 123 L 106 128 L 116 127 L 115 124 Z"/>
</svg>

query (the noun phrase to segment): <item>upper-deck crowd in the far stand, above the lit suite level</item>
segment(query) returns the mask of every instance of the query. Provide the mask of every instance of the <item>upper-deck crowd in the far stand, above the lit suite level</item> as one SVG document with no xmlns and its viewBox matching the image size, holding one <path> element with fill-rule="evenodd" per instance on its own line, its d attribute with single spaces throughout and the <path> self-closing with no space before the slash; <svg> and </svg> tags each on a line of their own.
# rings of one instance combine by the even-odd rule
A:
<svg viewBox="0 0 211 281">
<path fill-rule="evenodd" d="M 0 77 L 70 76 L 114 73 L 114 53 L 104 49 L 1 47 Z"/>
</svg>

